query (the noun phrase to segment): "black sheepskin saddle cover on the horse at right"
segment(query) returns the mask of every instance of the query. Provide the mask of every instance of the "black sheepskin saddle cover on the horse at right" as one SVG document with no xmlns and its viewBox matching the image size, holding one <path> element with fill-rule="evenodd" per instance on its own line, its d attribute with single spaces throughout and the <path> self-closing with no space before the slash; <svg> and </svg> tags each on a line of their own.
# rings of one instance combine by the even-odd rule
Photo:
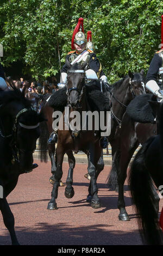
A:
<svg viewBox="0 0 163 256">
<path fill-rule="evenodd" d="M 149 105 L 149 101 L 157 101 L 153 94 L 136 96 L 126 108 L 126 113 L 131 119 L 139 123 L 155 123 L 155 114 Z"/>
</svg>

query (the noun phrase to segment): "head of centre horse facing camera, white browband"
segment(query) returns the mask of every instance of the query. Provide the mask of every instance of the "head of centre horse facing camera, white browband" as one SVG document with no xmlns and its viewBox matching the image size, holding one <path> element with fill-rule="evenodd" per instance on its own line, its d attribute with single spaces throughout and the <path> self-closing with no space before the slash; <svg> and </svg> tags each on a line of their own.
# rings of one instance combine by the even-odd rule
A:
<svg viewBox="0 0 163 256">
<path fill-rule="evenodd" d="M 67 66 L 70 68 L 67 73 L 67 95 L 68 104 L 73 108 L 77 109 L 80 107 L 82 96 L 85 86 L 85 66 L 87 62 L 82 65 L 74 63 L 73 65 L 68 63 Z"/>
</svg>

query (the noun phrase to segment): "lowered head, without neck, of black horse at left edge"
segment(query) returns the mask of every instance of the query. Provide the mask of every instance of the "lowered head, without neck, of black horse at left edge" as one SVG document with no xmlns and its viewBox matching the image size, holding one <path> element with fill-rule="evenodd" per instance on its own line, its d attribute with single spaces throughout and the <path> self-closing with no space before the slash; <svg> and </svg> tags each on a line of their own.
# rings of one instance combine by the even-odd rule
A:
<svg viewBox="0 0 163 256">
<path fill-rule="evenodd" d="M 36 141 L 40 137 L 39 125 L 42 121 L 45 121 L 43 115 L 33 109 L 23 108 L 16 115 L 14 143 L 18 152 L 20 170 L 23 172 L 31 170 Z"/>
</svg>

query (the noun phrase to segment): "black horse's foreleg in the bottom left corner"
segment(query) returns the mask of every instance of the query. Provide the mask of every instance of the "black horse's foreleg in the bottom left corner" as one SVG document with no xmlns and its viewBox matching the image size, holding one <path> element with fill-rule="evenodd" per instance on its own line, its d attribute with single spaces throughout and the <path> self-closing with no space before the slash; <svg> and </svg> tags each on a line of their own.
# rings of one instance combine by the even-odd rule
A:
<svg viewBox="0 0 163 256">
<path fill-rule="evenodd" d="M 14 215 L 11 212 L 10 206 L 6 198 L 0 199 L 0 210 L 2 212 L 4 225 L 9 230 L 12 245 L 19 245 L 16 234 L 15 234 L 15 229 L 14 229 L 14 225 L 15 225 Z"/>
</svg>

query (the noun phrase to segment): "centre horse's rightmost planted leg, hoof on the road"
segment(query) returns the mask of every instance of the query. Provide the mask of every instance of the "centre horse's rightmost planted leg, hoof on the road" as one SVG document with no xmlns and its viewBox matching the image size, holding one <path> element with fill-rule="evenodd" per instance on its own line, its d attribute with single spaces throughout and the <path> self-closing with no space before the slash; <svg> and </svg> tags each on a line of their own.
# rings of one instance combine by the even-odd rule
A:
<svg viewBox="0 0 163 256">
<path fill-rule="evenodd" d="M 90 147 L 89 147 L 89 162 L 88 162 L 88 173 L 91 177 L 90 180 L 90 186 L 91 186 L 91 207 L 92 208 L 101 208 L 101 202 L 98 198 L 97 192 L 98 192 L 98 188 L 97 188 L 97 182 L 96 182 L 96 166 L 97 166 L 97 162 L 99 160 L 99 156 L 97 156 L 97 152 L 98 149 L 96 149 L 95 151 L 95 144 L 90 143 Z"/>
</svg>

